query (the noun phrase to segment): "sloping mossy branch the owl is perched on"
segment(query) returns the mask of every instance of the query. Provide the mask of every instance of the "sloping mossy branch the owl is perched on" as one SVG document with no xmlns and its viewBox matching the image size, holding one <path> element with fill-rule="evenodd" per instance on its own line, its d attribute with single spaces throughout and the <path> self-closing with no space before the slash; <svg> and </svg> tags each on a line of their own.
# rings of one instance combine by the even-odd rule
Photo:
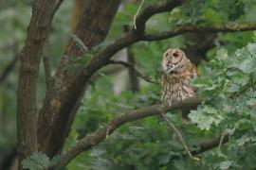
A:
<svg viewBox="0 0 256 170">
<path fill-rule="evenodd" d="M 190 108 L 196 106 L 200 103 L 198 97 L 192 97 L 181 102 L 175 102 L 172 107 L 164 104 L 153 105 L 138 110 L 131 110 L 124 114 L 121 114 L 114 119 L 112 119 L 107 126 L 101 127 L 94 133 L 82 138 L 73 148 L 61 155 L 61 161 L 57 165 L 56 169 L 59 169 L 66 165 L 69 161 L 72 161 L 77 155 L 82 151 L 90 149 L 93 145 L 99 144 L 106 136 L 113 133 L 118 127 L 124 125 L 125 123 L 136 121 L 137 119 L 142 119 L 148 116 L 158 115 L 161 112 L 166 112 L 168 110 L 178 110 L 184 108 Z"/>
</svg>

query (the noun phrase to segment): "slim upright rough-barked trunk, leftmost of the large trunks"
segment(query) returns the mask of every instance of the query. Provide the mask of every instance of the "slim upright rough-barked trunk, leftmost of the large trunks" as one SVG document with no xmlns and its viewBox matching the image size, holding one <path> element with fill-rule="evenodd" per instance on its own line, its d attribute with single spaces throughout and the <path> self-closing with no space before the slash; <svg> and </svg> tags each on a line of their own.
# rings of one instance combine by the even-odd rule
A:
<svg viewBox="0 0 256 170">
<path fill-rule="evenodd" d="M 54 14 L 55 0 L 37 0 L 21 52 L 17 98 L 17 141 L 20 162 L 37 150 L 36 82 L 40 60 Z"/>
</svg>

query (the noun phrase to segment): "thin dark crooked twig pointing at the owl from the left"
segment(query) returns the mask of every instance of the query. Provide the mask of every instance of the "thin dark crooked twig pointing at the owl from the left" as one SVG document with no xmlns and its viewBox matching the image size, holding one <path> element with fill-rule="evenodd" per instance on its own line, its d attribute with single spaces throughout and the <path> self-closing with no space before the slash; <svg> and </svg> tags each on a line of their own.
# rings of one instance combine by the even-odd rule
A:
<svg viewBox="0 0 256 170">
<path fill-rule="evenodd" d="M 125 61 L 122 61 L 122 60 L 112 60 L 110 59 L 108 61 L 109 64 L 120 64 L 120 65 L 123 65 L 125 67 L 132 67 L 136 73 L 136 75 L 142 79 L 144 79 L 145 81 L 148 81 L 150 83 L 153 83 L 155 85 L 160 85 L 160 83 L 158 83 L 157 81 L 155 80 L 152 80 L 150 77 L 148 76 L 144 76 L 143 74 L 141 74 L 139 71 L 137 71 L 137 69 L 135 68 L 135 66 L 129 62 L 125 62 Z"/>
</svg>

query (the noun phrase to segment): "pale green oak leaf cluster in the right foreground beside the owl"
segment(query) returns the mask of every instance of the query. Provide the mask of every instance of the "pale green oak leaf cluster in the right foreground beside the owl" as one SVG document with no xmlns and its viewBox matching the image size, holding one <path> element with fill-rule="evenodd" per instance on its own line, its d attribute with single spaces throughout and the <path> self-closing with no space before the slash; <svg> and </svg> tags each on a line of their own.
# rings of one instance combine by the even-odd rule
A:
<svg viewBox="0 0 256 170">
<path fill-rule="evenodd" d="M 217 156 L 222 158 L 220 169 L 241 167 L 249 154 L 242 158 L 240 149 L 255 147 L 255 75 L 256 44 L 248 43 L 231 54 L 219 50 L 216 58 L 204 66 L 202 76 L 192 81 L 204 100 L 189 115 L 192 122 L 201 129 L 220 127 L 230 135 L 232 144 Z M 238 154 L 238 158 L 230 154 Z"/>
</svg>

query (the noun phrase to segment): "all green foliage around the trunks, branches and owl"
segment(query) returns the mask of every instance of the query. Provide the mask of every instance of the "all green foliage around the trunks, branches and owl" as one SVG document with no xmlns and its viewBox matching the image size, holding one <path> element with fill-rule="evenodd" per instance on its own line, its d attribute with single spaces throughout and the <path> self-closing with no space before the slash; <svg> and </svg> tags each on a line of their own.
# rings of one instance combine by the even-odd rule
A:
<svg viewBox="0 0 256 170">
<path fill-rule="evenodd" d="M 143 7 L 155 2 L 158 1 L 145 0 Z M 133 26 L 138 6 L 138 2 L 121 4 L 107 40 L 94 48 L 92 56 L 119 38 L 123 34 L 123 26 Z M 0 28 L 0 73 L 3 73 L 24 44 L 31 7 L 29 2 L 14 0 L 0 1 L 0 7 L 5 7 L 0 8 L 0 23 L 3 23 Z M 53 21 L 46 44 L 46 56 L 50 59 L 52 72 L 63 54 L 64 42 L 71 35 L 71 7 L 71 1 L 64 1 Z M 172 30 L 187 24 L 199 27 L 229 23 L 256 24 L 255 12 L 254 0 L 191 0 L 174 8 L 170 14 L 156 14 L 148 21 L 147 32 Z M 196 155 L 199 161 L 193 161 L 187 156 L 174 131 L 160 116 L 152 116 L 119 127 L 100 144 L 71 161 L 66 166 L 67 169 L 183 170 L 256 167 L 255 31 L 188 33 L 163 41 L 137 42 L 129 46 L 129 50 L 136 60 L 137 70 L 159 82 L 162 53 L 169 47 L 187 50 L 187 55 L 192 55 L 189 56 L 192 61 L 199 59 L 197 68 L 200 76 L 193 79 L 192 84 L 198 87 L 202 103 L 189 114 L 192 123 L 184 123 L 178 114 L 179 110 L 168 112 L 168 117 L 194 152 L 200 150 L 200 144 L 215 137 L 221 136 L 223 141 Z M 191 50 L 188 49 L 194 49 L 196 53 L 190 53 Z M 199 56 L 193 56 L 194 54 Z M 88 55 L 85 54 L 82 58 L 88 58 Z M 77 64 L 84 62 L 86 59 L 80 59 Z M 17 66 L 18 63 L 7 78 L 0 81 L 0 162 L 6 160 L 16 144 Z M 115 92 L 114 87 L 120 86 L 123 81 L 124 84 L 129 84 L 129 76 L 119 76 L 120 68 L 122 67 L 116 65 L 106 66 L 91 78 L 64 151 L 74 146 L 82 137 L 107 125 L 113 117 L 127 110 L 160 103 L 160 85 L 141 78 L 139 91 L 136 93 L 131 91 L 130 86 L 123 88 L 121 93 Z M 71 69 L 76 71 L 77 67 Z M 112 70 L 115 70 L 114 74 Z M 38 109 L 42 106 L 45 91 L 42 64 L 37 92 Z M 39 167 L 41 164 L 40 167 L 46 168 L 58 161 L 58 157 L 55 159 L 49 161 L 43 153 L 36 153 L 34 159 L 28 159 L 25 166 Z"/>
</svg>

